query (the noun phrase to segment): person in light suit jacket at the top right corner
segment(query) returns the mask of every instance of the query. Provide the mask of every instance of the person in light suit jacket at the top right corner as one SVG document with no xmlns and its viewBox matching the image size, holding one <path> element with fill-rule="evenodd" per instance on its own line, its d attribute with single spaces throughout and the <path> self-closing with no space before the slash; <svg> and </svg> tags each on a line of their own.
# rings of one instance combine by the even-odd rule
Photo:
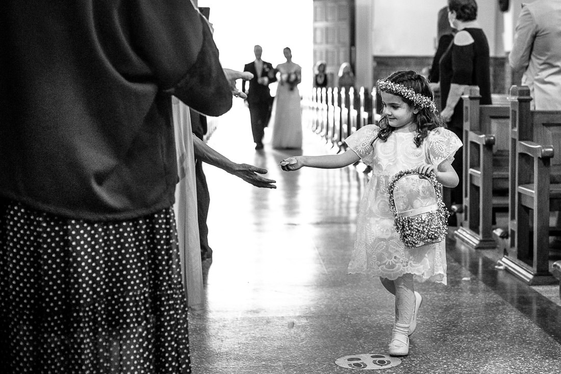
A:
<svg viewBox="0 0 561 374">
<path fill-rule="evenodd" d="M 561 2 L 536 0 L 522 4 L 508 61 L 523 71 L 532 108 L 561 109 Z"/>
</svg>

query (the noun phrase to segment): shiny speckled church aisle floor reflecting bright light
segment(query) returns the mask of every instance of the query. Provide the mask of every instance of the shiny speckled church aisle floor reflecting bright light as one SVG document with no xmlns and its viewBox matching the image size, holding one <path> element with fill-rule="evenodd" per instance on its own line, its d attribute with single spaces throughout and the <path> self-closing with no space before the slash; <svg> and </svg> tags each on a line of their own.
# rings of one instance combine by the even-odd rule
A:
<svg viewBox="0 0 561 374">
<path fill-rule="evenodd" d="M 306 125 L 304 133 L 305 154 L 327 152 Z M 269 144 L 255 151 L 239 103 L 209 145 L 268 168 L 278 188 L 205 167 L 214 259 L 206 308 L 190 311 L 193 372 L 352 373 L 335 360 L 387 354 L 392 295 L 378 279 L 346 274 L 361 174 L 352 167 L 282 172 L 279 160 L 301 151 Z M 380 372 L 561 373 L 561 307 L 481 252 L 454 241 L 447 252 L 448 285 L 417 285 L 424 302 L 410 355 Z"/>
</svg>

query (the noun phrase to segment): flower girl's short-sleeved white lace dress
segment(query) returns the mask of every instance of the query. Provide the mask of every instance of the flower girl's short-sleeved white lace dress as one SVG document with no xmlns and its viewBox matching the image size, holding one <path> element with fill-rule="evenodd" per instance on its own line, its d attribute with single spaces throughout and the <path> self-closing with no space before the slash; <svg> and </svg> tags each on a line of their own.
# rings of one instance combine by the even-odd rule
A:
<svg viewBox="0 0 561 374">
<path fill-rule="evenodd" d="M 430 131 L 418 148 L 413 142 L 415 132 L 394 132 L 387 141 L 376 139 L 373 143 L 379 130 L 378 126 L 370 124 L 345 140 L 373 169 L 360 204 L 348 273 L 363 273 L 390 280 L 411 273 L 418 281 L 446 284 L 445 242 L 417 248 L 404 247 L 393 226 L 387 187 L 392 176 L 401 170 L 425 163 L 438 165 L 447 159 L 451 161 L 462 142 L 452 131 L 439 127 Z"/>
</svg>

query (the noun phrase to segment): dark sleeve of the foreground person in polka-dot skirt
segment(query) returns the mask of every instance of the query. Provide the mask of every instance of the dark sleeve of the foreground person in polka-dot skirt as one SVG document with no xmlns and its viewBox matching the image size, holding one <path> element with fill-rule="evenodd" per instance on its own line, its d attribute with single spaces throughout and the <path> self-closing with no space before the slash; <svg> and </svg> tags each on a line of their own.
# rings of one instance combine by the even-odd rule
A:
<svg viewBox="0 0 561 374">
<path fill-rule="evenodd" d="M 190 1 L 135 3 L 132 47 L 160 91 L 197 112 L 220 116 L 232 107 L 232 91 L 210 26 Z"/>
</svg>

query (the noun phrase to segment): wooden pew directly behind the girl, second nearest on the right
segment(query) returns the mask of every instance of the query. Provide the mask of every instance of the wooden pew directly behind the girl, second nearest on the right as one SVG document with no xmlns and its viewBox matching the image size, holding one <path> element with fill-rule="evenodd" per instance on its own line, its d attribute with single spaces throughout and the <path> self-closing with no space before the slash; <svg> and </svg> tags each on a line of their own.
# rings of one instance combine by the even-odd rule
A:
<svg viewBox="0 0 561 374">
<path fill-rule="evenodd" d="M 493 209 L 508 209 L 507 105 L 480 105 L 479 87 L 463 99 L 463 215 L 454 236 L 476 249 L 495 248 Z"/>
</svg>

